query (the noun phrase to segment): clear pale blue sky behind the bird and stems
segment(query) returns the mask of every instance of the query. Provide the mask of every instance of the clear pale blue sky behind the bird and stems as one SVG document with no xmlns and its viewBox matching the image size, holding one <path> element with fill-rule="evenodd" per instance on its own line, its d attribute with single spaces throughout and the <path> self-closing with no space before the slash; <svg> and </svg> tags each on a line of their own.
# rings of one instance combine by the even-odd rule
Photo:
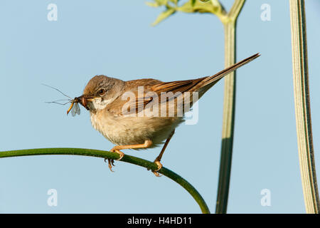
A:
<svg viewBox="0 0 320 228">
<path fill-rule="evenodd" d="M 233 1 L 222 1 L 230 9 Z M 48 21 L 47 6 L 58 6 Z M 271 21 L 262 21 L 270 4 Z M 66 115 L 47 104 L 82 94 L 97 74 L 122 80 L 186 80 L 223 69 L 223 26 L 210 14 L 171 16 L 139 1 L 0 1 L 0 150 L 82 147 L 110 150 L 89 113 Z M 311 115 L 320 178 L 320 1 L 306 1 Z M 262 56 L 238 71 L 233 167 L 228 212 L 304 213 L 294 117 L 289 1 L 248 0 L 238 19 L 237 58 Z M 199 101 L 196 125 L 181 125 L 163 157 L 215 211 L 220 162 L 223 81 Z M 160 148 L 124 150 L 154 160 Z M 167 177 L 101 158 L 46 155 L 0 159 L 0 212 L 200 213 L 188 193 Z M 47 192 L 58 191 L 49 207 Z M 271 206 L 260 204 L 261 190 Z"/>
</svg>

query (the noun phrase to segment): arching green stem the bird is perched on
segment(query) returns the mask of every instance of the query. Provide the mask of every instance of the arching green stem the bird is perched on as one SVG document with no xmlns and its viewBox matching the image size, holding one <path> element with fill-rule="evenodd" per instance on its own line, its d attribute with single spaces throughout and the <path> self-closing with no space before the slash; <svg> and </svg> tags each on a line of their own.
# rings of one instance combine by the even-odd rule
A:
<svg viewBox="0 0 320 228">
<path fill-rule="evenodd" d="M 104 150 L 90 150 L 82 148 L 42 148 L 42 149 L 30 149 L 30 150 L 10 150 L 0 152 L 0 157 L 18 157 L 18 156 L 29 156 L 29 155 L 82 155 L 82 156 L 92 156 L 92 157 L 103 157 L 117 160 L 119 155 L 115 152 L 104 151 Z M 129 155 L 124 155 L 122 157 L 122 162 L 129 162 L 134 165 L 139 165 L 146 167 L 149 170 L 156 170 L 157 166 L 154 162 L 149 162 L 147 160 L 141 159 L 139 157 L 133 157 Z M 181 176 L 177 175 L 175 172 L 162 167 L 159 173 L 169 177 L 171 180 L 177 182 L 181 187 L 183 187 L 189 194 L 196 200 L 201 212 L 203 214 L 210 214 L 206 202 L 203 197 L 198 193 L 198 191 Z"/>
</svg>

